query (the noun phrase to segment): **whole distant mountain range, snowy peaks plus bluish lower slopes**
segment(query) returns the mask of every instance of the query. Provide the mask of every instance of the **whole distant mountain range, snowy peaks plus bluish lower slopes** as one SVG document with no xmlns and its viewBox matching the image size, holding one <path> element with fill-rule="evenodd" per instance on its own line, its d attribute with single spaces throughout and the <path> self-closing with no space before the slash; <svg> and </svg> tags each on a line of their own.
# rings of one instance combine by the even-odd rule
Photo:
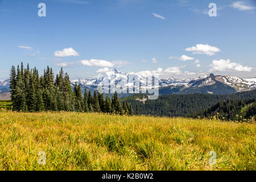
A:
<svg viewBox="0 0 256 182">
<path fill-rule="evenodd" d="M 130 79 L 129 78 L 133 78 Z M 127 81 L 128 80 L 128 81 Z M 153 80 L 159 81 L 159 95 L 167 94 L 192 94 L 192 93 L 208 93 L 208 94 L 230 94 L 242 91 L 256 89 L 255 78 L 240 78 L 233 76 L 210 75 L 201 76 L 191 79 L 178 79 L 170 77 L 167 79 Z M 113 85 L 121 83 L 131 86 L 133 82 L 139 82 L 139 85 L 146 85 L 147 73 L 123 73 L 117 69 L 111 69 L 109 72 L 101 73 L 98 78 L 81 79 L 71 81 L 71 86 L 79 84 L 82 91 L 86 89 L 94 90 L 100 85 Z M 0 81 L 0 95 L 9 92 L 9 80 Z M 125 96 L 125 95 L 124 95 Z M 0 96 L 1 98 L 1 96 Z"/>
</svg>

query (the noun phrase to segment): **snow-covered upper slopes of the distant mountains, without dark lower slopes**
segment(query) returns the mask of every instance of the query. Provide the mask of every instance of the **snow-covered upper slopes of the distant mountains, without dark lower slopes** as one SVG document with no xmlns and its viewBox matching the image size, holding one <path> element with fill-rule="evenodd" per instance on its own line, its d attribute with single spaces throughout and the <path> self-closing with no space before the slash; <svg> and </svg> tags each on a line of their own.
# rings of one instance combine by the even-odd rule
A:
<svg viewBox="0 0 256 182">
<path fill-rule="evenodd" d="M 151 81 L 151 80 L 150 80 Z M 132 86 L 135 83 L 139 83 L 139 85 L 146 85 L 148 81 L 147 73 L 139 72 L 139 73 L 123 73 L 117 71 L 117 69 L 111 69 L 109 72 L 101 73 L 97 79 L 77 79 L 71 81 L 72 86 L 80 84 L 88 89 L 96 89 L 100 85 L 117 85 L 122 84 L 126 86 Z M 241 92 L 247 90 L 256 89 L 256 78 L 239 78 L 233 76 L 222 76 L 216 75 L 214 76 L 212 73 L 210 75 L 204 75 L 198 78 L 192 79 L 178 79 L 174 77 L 170 77 L 167 79 L 156 80 L 159 81 L 160 88 L 177 88 L 179 87 L 181 90 L 189 89 L 189 88 L 202 88 L 203 86 L 210 86 L 215 84 L 224 84 L 232 89 L 234 92 Z M 154 80 L 152 81 L 154 84 Z M 138 85 L 138 84 L 137 84 Z M 216 88 L 216 85 L 215 85 Z M 223 89 L 223 88 L 222 88 Z M 180 90 L 180 91 L 181 91 Z M 229 89 L 230 90 L 230 89 Z M 212 91 L 209 90 L 208 93 Z M 214 92 L 213 92 L 214 93 Z"/>
</svg>

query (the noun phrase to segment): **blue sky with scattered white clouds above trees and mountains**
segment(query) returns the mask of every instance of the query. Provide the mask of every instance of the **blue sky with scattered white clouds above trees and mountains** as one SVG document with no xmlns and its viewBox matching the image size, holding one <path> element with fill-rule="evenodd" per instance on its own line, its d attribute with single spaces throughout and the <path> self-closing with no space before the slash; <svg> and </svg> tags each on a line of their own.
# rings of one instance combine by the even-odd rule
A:
<svg viewBox="0 0 256 182">
<path fill-rule="evenodd" d="M 46 4 L 46 17 L 38 4 Z M 216 3 L 217 16 L 208 15 Z M 156 71 L 161 77 L 256 77 L 256 1 L 0 0 L 0 79 L 20 61 L 72 78 Z"/>
</svg>

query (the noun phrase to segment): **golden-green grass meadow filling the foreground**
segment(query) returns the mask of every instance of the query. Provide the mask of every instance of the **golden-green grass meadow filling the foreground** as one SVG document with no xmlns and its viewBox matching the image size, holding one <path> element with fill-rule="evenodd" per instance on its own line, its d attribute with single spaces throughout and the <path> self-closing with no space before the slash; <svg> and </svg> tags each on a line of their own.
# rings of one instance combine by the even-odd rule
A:
<svg viewBox="0 0 256 182">
<path fill-rule="evenodd" d="M 255 170 L 255 129 L 217 119 L 2 109 L 0 170 Z"/>
</svg>

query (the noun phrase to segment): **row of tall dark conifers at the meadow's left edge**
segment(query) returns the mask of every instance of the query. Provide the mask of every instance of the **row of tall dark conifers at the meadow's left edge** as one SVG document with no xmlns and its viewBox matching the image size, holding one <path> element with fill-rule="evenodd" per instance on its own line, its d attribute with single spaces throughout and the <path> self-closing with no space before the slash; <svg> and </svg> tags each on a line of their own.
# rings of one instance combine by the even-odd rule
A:
<svg viewBox="0 0 256 182">
<path fill-rule="evenodd" d="M 23 67 L 23 63 L 10 72 L 10 92 L 13 110 L 16 111 L 77 111 L 115 113 L 133 115 L 133 107 L 128 101 L 121 102 L 117 93 L 110 99 L 107 94 L 92 94 L 85 89 L 84 97 L 79 84 L 72 89 L 68 73 L 63 68 L 54 76 L 47 66 L 42 76 L 38 69 Z M 137 112 L 138 114 L 138 108 Z"/>
</svg>

